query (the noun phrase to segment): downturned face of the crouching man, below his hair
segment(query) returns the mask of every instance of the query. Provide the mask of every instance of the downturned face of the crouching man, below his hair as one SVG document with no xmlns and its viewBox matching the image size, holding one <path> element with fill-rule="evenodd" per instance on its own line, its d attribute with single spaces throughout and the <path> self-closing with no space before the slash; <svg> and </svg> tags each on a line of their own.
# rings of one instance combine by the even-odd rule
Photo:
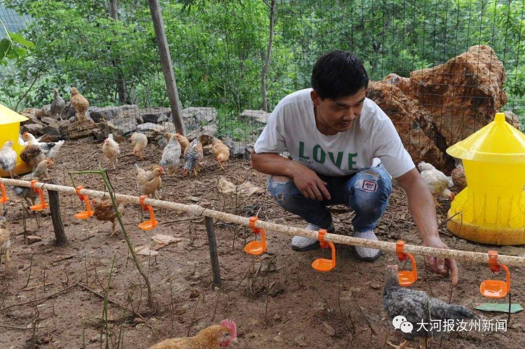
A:
<svg viewBox="0 0 525 349">
<path fill-rule="evenodd" d="M 317 107 L 317 121 L 331 132 L 344 132 L 351 128 L 363 109 L 365 89 L 353 96 L 321 100 L 316 91 L 311 92 L 313 104 Z"/>
</svg>

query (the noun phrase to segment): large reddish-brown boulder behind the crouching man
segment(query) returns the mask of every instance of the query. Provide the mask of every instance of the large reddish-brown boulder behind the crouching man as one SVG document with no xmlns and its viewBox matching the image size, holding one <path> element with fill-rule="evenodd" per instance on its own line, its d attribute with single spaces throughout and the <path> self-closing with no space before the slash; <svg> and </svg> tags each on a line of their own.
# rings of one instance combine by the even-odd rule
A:
<svg viewBox="0 0 525 349">
<path fill-rule="evenodd" d="M 454 168 L 447 147 L 487 123 L 507 102 L 505 69 L 486 45 L 434 68 L 395 74 L 370 83 L 367 96 L 392 119 L 414 162 L 433 163 L 445 172 Z"/>
</svg>

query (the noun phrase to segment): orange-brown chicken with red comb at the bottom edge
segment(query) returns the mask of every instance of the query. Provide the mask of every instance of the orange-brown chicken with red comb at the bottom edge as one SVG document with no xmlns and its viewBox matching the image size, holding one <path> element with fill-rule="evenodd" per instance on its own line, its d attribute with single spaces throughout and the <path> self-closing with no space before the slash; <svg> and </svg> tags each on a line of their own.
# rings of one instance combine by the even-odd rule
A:
<svg viewBox="0 0 525 349">
<path fill-rule="evenodd" d="M 227 348 L 237 342 L 235 322 L 223 320 L 199 331 L 193 337 L 181 337 L 164 340 L 149 349 L 218 349 Z"/>
</svg>

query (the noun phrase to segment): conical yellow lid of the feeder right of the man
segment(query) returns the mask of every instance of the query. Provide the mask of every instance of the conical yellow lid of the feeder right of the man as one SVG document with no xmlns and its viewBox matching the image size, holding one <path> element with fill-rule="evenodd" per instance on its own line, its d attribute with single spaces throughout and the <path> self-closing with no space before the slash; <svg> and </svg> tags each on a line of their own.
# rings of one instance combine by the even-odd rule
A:
<svg viewBox="0 0 525 349">
<path fill-rule="evenodd" d="M 451 156 L 495 164 L 525 164 L 525 134 L 496 113 L 494 121 L 447 149 Z"/>
</svg>

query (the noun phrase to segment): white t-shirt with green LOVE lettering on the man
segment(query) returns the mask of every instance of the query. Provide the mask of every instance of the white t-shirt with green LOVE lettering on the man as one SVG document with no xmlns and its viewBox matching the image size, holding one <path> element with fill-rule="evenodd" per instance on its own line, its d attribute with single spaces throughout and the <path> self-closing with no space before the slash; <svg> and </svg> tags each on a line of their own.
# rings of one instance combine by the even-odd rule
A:
<svg viewBox="0 0 525 349">
<path fill-rule="evenodd" d="M 365 98 L 348 131 L 324 135 L 316 126 L 311 91 L 293 92 L 277 104 L 255 143 L 257 154 L 287 149 L 294 161 L 326 176 L 349 175 L 382 163 L 396 178 L 415 167 L 394 124 L 374 101 Z"/>
</svg>

